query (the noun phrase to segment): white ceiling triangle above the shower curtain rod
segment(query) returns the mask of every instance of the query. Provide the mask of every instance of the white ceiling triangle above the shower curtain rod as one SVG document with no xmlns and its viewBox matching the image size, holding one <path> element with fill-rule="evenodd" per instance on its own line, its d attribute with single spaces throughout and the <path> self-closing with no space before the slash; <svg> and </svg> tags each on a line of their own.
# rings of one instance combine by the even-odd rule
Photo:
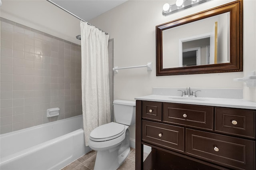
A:
<svg viewBox="0 0 256 170">
<path fill-rule="evenodd" d="M 115 8 L 127 0 L 52 0 L 85 21 Z"/>
</svg>

